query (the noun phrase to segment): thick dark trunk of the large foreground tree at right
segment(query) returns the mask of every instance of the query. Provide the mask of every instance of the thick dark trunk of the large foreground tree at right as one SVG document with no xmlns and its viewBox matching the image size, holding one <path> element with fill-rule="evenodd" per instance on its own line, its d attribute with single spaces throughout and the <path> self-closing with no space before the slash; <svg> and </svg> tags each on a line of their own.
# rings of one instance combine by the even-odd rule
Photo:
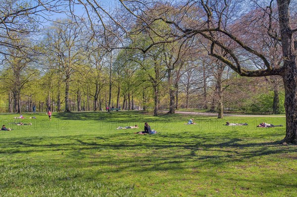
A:
<svg viewBox="0 0 297 197">
<path fill-rule="evenodd" d="M 277 0 L 282 38 L 284 66 L 282 77 L 285 85 L 286 136 L 282 143 L 297 144 L 297 65 L 294 37 L 291 31 L 290 0 Z"/>
</svg>

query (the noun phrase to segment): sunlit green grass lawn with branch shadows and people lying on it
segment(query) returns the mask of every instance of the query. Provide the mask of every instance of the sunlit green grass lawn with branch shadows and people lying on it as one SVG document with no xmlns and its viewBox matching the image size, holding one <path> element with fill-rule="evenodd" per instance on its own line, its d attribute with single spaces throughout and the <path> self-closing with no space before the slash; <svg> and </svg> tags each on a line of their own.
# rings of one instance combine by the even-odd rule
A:
<svg viewBox="0 0 297 197">
<path fill-rule="evenodd" d="M 297 146 L 277 117 L 142 112 L 0 115 L 0 197 L 295 197 Z M 29 119 L 36 116 L 37 119 Z M 195 118 L 197 125 L 184 125 Z M 155 135 L 137 135 L 144 122 Z M 248 126 L 223 126 L 226 121 Z M 117 130 L 138 124 L 141 129 Z"/>
</svg>

